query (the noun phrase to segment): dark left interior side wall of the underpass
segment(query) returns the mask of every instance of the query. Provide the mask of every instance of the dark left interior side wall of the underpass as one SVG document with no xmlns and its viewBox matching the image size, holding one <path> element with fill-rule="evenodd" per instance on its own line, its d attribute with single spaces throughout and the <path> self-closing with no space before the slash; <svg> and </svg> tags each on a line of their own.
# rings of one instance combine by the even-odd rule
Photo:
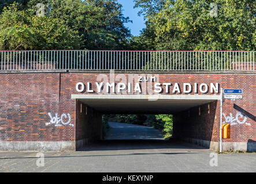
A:
<svg viewBox="0 0 256 184">
<path fill-rule="evenodd" d="M 102 139 L 102 114 L 76 101 L 76 150 Z"/>
</svg>

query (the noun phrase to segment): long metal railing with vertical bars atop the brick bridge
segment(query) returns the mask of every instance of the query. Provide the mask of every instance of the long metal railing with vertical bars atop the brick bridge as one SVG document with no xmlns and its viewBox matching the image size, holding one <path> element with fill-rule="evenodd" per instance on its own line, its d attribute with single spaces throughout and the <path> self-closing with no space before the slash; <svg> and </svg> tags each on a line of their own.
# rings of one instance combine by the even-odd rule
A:
<svg viewBox="0 0 256 184">
<path fill-rule="evenodd" d="M 0 51 L 0 70 L 255 71 L 255 51 Z"/>
</svg>

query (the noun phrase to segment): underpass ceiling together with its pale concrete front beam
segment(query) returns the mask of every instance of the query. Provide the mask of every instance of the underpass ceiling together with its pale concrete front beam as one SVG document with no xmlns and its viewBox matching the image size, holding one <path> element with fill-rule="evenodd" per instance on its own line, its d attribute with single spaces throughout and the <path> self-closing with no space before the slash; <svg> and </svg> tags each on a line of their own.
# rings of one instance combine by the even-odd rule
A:
<svg viewBox="0 0 256 184">
<path fill-rule="evenodd" d="M 134 95 L 133 97 L 127 98 L 115 98 L 117 95 L 107 96 L 111 96 L 111 98 L 94 98 L 92 97 L 92 95 L 81 95 L 79 98 L 76 99 L 78 99 L 84 105 L 87 105 L 104 114 L 175 114 L 177 112 L 181 112 L 183 110 L 187 110 L 195 106 L 216 101 L 219 98 L 217 95 L 215 97 L 209 97 L 213 95 L 190 95 L 190 98 L 188 99 L 182 97 L 179 97 L 180 99 L 175 99 L 176 97 L 161 97 L 160 99 L 149 99 L 147 98 L 148 95 L 145 96 L 146 98 L 139 97 L 135 99 Z M 194 99 L 193 96 L 195 96 Z M 199 96 L 205 97 L 201 98 Z M 206 96 L 208 96 L 209 98 L 207 98 Z"/>
</svg>

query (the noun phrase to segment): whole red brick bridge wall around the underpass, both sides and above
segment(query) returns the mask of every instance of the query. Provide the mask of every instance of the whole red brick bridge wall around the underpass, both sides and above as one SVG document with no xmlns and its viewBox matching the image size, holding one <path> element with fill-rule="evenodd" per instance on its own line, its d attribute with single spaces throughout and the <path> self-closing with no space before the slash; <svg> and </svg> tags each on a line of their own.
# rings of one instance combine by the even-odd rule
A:
<svg viewBox="0 0 256 184">
<path fill-rule="evenodd" d="M 0 74 L 0 132 L 1 140 L 16 141 L 75 141 L 79 137 L 76 135 L 76 101 L 71 99 L 71 94 L 81 94 L 75 89 L 77 82 L 91 82 L 92 89 L 96 90 L 95 82 L 99 74 L 82 73 L 36 73 L 36 74 Z M 109 77 L 109 74 L 104 74 Z M 115 76 L 128 76 L 132 74 L 116 74 Z M 136 74 L 138 75 L 138 74 Z M 146 74 L 142 74 L 146 75 Z M 238 110 L 233 108 L 233 104 L 246 110 L 247 113 L 256 115 L 256 75 L 253 74 L 159 74 L 159 83 L 171 82 L 182 84 L 187 83 L 220 83 L 220 87 L 227 89 L 243 89 L 243 99 L 235 102 L 226 99 L 223 112 L 235 117 Z M 136 78 L 137 79 L 137 78 Z M 117 79 L 118 83 L 120 79 Z M 100 82 L 100 81 L 98 81 Z M 137 82 L 135 80 L 135 82 Z M 154 83 L 153 83 L 154 85 Z M 143 90 L 144 91 L 144 90 Z M 95 93 L 84 93 L 95 94 Z M 163 92 L 165 93 L 165 90 Z M 181 93 L 182 94 L 182 93 Z M 192 92 L 191 94 L 194 94 Z M 198 94 L 201 94 L 200 92 Z M 209 93 L 210 94 L 210 93 Z M 173 94 L 166 94 L 173 95 Z M 179 95 L 179 94 L 176 94 Z M 208 94 L 203 94 L 208 95 Z M 211 95 L 211 94 L 210 94 Z M 215 111 L 215 120 L 212 122 L 214 114 L 206 113 L 205 106 L 202 106 L 201 117 L 196 109 L 191 109 L 193 122 L 188 124 L 187 135 L 191 137 L 201 137 L 205 140 L 218 141 L 220 124 L 220 103 L 211 104 L 211 113 Z M 216 110 L 214 110 L 214 108 Z M 71 124 L 62 127 L 55 127 L 50 122 L 48 113 L 60 117 L 61 114 L 71 115 Z M 186 112 L 183 112 L 186 113 Z M 251 118 L 253 118 L 253 116 Z M 211 120 L 208 120 L 211 118 Z M 237 124 L 231 126 L 231 139 L 224 141 L 248 141 L 256 140 L 256 122 L 247 118 L 247 123 L 251 125 Z M 223 117 L 225 120 L 225 118 Z M 223 121 L 224 121 L 223 120 Z M 239 120 L 243 120 L 240 118 Z M 66 121 L 66 119 L 65 119 Z M 206 124 L 205 124 L 206 121 Z M 200 123 L 196 124 L 196 123 Z M 188 123 L 188 121 L 186 122 Z M 191 126 L 190 126 L 191 125 Z M 202 128 L 201 128 L 202 127 Z M 188 130 L 191 131 L 188 131 Z M 212 134 L 212 136 L 209 136 Z M 200 136 L 199 136 L 200 135 Z"/>
</svg>

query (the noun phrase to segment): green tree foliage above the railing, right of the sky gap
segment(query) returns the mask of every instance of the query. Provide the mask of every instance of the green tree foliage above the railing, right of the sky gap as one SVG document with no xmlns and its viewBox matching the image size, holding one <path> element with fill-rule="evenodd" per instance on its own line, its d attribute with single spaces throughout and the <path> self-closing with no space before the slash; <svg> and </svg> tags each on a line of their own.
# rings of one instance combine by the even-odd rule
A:
<svg viewBox="0 0 256 184">
<path fill-rule="evenodd" d="M 136 2 L 143 7 L 147 1 Z M 144 7 L 147 28 L 140 39 L 149 38 L 159 50 L 255 50 L 255 1 L 218 0 L 217 16 L 210 3 L 166 0 L 153 16 L 154 8 Z"/>
</svg>

